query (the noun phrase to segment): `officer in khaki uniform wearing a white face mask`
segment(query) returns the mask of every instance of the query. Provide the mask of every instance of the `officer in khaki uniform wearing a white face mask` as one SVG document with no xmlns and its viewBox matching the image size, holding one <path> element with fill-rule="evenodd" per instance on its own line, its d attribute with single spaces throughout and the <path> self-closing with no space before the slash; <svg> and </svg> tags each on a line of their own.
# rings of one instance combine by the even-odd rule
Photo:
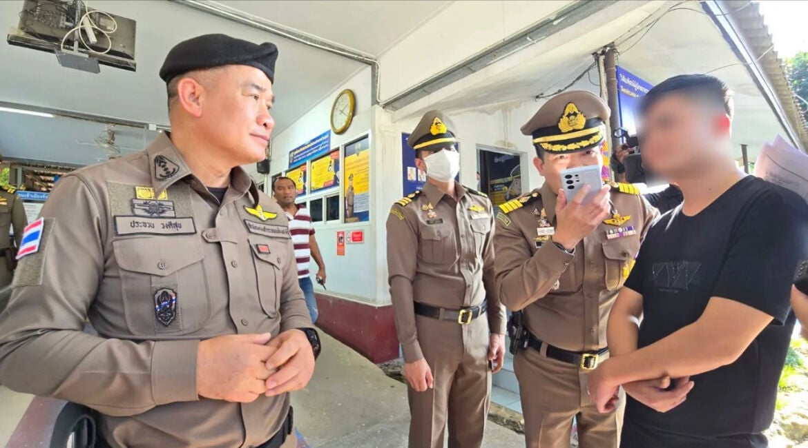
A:
<svg viewBox="0 0 808 448">
<path fill-rule="evenodd" d="M 494 214 L 488 197 L 454 179 L 452 123 L 421 118 L 407 143 L 427 184 L 393 204 L 387 263 L 409 384 L 410 447 L 482 446 L 491 373 L 505 355 L 505 309 L 494 288 Z M 494 367 L 495 365 L 495 367 Z"/>
</svg>

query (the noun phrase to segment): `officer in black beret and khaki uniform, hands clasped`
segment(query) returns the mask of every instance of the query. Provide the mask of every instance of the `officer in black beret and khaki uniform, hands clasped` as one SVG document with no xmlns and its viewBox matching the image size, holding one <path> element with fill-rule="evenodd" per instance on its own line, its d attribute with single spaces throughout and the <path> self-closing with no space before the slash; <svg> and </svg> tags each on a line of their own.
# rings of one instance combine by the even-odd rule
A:
<svg viewBox="0 0 808 448">
<path fill-rule="evenodd" d="M 95 409 L 95 446 L 297 446 L 288 392 L 317 332 L 286 216 L 240 168 L 265 157 L 276 57 L 178 44 L 160 70 L 171 132 L 62 176 L 27 227 L 0 383 Z"/>
</svg>

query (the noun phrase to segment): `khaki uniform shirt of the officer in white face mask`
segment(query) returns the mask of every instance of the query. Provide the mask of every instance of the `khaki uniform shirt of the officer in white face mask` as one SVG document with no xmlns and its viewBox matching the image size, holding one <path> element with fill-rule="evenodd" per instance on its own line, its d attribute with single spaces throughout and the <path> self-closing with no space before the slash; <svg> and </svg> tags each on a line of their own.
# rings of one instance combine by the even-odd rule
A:
<svg viewBox="0 0 808 448">
<path fill-rule="evenodd" d="M 505 334 L 505 308 L 494 288 L 494 214 L 482 193 L 455 184 L 459 199 L 427 183 L 396 202 L 387 218 L 387 267 L 404 361 L 423 358 L 414 302 L 445 309 L 488 298 L 491 333 Z"/>
</svg>

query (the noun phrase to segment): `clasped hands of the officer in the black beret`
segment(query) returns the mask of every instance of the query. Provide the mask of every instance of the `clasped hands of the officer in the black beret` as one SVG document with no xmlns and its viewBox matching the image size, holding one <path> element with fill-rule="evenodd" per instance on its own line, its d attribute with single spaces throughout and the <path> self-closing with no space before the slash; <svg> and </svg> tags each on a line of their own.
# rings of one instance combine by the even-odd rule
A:
<svg viewBox="0 0 808 448">
<path fill-rule="evenodd" d="M 200 342 L 196 392 L 213 400 L 250 403 L 309 384 L 314 351 L 302 330 L 271 334 L 229 334 Z"/>
</svg>

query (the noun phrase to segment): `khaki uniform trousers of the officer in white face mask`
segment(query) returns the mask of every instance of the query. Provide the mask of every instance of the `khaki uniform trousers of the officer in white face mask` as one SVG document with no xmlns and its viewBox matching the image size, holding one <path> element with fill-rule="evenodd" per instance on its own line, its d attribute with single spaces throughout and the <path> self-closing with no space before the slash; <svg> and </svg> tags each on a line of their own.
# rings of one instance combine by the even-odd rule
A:
<svg viewBox="0 0 808 448">
<path fill-rule="evenodd" d="M 415 316 L 418 340 L 435 380 L 434 388 L 410 400 L 410 448 L 479 448 L 488 417 L 491 365 L 490 333 L 483 314 L 469 325 Z"/>
</svg>

